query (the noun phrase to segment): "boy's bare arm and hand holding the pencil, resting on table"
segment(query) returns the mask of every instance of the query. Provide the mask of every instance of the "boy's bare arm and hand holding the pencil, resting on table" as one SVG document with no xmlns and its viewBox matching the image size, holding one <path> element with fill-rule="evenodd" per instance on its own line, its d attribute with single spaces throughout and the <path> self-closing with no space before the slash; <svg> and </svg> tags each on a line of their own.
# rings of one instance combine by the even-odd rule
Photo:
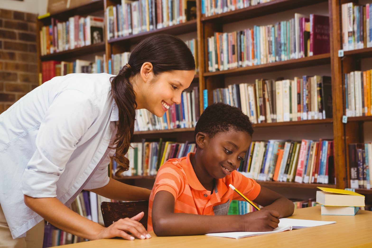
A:
<svg viewBox="0 0 372 248">
<path fill-rule="evenodd" d="M 152 207 L 153 229 L 157 236 L 201 235 L 214 232 L 272 231 L 279 214 L 262 210 L 242 215 L 206 216 L 174 213 L 174 196 L 168 191 L 155 194 Z"/>
</svg>

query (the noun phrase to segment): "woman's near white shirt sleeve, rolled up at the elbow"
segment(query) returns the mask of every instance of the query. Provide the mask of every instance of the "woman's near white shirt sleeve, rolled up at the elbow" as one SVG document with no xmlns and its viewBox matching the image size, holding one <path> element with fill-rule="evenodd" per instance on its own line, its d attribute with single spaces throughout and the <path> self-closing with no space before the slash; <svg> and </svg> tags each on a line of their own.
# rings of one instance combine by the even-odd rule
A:
<svg viewBox="0 0 372 248">
<path fill-rule="evenodd" d="M 35 198 L 57 196 L 56 182 L 96 112 L 93 100 L 78 90 L 67 89 L 54 98 L 36 135 L 36 150 L 22 175 L 23 194 Z"/>
</svg>

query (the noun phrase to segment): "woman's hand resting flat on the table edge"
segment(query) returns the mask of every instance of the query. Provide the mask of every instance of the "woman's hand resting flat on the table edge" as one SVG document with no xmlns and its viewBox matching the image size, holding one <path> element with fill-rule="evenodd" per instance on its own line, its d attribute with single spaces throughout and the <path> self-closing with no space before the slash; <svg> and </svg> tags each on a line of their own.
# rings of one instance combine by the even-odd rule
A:
<svg viewBox="0 0 372 248">
<path fill-rule="evenodd" d="M 138 222 L 142 219 L 144 213 L 141 212 L 132 218 L 120 219 L 110 225 L 108 228 L 103 228 L 97 235 L 97 239 L 109 239 L 114 237 L 121 237 L 123 239 L 134 240 L 134 236 L 139 239 L 149 239 L 151 235 L 147 232 L 144 226 Z M 129 235 L 126 232 L 130 232 Z"/>
</svg>

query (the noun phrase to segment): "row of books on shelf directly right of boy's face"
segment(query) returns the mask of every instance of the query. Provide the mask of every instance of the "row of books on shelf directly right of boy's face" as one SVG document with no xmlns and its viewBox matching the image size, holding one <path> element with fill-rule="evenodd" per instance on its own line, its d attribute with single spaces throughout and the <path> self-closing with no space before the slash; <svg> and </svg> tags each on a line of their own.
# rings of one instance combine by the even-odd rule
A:
<svg viewBox="0 0 372 248">
<path fill-rule="evenodd" d="M 333 140 L 252 142 L 238 171 L 259 181 L 334 183 Z"/>
</svg>

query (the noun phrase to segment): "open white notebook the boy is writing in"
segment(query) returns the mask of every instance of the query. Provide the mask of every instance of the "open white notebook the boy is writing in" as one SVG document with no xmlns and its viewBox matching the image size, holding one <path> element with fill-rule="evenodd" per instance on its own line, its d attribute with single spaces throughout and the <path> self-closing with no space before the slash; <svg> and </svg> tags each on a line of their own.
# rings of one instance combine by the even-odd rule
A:
<svg viewBox="0 0 372 248">
<path fill-rule="evenodd" d="M 299 219 L 279 219 L 279 225 L 277 228 L 270 232 L 220 232 L 220 233 L 208 233 L 208 236 L 225 237 L 225 238 L 246 238 L 250 236 L 257 236 L 269 233 L 283 232 L 286 230 L 308 228 L 313 226 L 323 226 L 336 223 L 336 221 L 318 221 L 318 220 L 299 220 Z"/>
</svg>

